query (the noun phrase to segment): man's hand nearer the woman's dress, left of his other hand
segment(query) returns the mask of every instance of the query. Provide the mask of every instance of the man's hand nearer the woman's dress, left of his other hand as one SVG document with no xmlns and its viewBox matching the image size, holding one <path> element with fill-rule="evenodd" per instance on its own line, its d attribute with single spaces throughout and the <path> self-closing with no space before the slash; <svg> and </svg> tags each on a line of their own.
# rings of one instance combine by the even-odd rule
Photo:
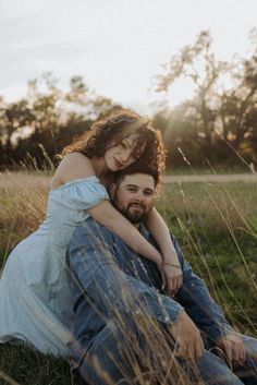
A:
<svg viewBox="0 0 257 385">
<path fill-rule="evenodd" d="M 176 357 L 196 360 L 203 354 L 205 347 L 200 333 L 185 311 L 180 312 L 170 333 L 178 346 Z"/>
</svg>

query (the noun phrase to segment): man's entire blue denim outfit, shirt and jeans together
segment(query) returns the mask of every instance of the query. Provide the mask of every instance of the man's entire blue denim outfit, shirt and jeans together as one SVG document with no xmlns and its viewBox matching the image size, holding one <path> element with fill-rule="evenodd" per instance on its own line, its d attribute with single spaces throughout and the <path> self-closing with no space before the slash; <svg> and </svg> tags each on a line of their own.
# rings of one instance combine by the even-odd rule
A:
<svg viewBox="0 0 257 385">
<path fill-rule="evenodd" d="M 97 237 L 93 237 L 95 233 Z M 199 378 L 208 385 L 257 385 L 257 340 L 241 335 L 248 356 L 244 366 L 234 373 L 224 360 L 209 352 L 209 344 L 232 327 L 211 299 L 205 282 L 192 272 L 178 244 L 174 245 L 183 269 L 183 286 L 176 301 L 208 337 L 205 352 L 195 362 L 180 360 L 178 363 L 174 358 L 174 342 L 168 325 L 180 309 L 178 302 L 158 294 L 156 289 L 161 285 L 155 264 L 139 258 L 118 237 L 94 221 L 76 229 L 69 251 L 74 279 L 76 339 L 70 346 L 71 365 L 87 383 L 143 384 L 138 378 L 143 375 L 150 384 L 160 385 L 188 385 L 199 383 Z M 113 267 L 113 262 L 122 274 Z M 124 294 L 124 288 L 130 289 L 128 297 Z M 145 310 L 142 312 L 143 303 Z M 170 311 L 170 323 L 166 321 L 163 304 L 164 310 Z M 144 318 L 145 328 L 139 328 L 136 317 L 138 321 Z M 154 329 L 150 328 L 152 320 L 157 326 Z M 148 336 L 145 329 L 150 329 Z M 154 338 L 156 330 L 159 334 Z M 255 357 L 255 363 L 252 357 Z M 181 375 L 187 380 L 181 382 Z"/>
</svg>

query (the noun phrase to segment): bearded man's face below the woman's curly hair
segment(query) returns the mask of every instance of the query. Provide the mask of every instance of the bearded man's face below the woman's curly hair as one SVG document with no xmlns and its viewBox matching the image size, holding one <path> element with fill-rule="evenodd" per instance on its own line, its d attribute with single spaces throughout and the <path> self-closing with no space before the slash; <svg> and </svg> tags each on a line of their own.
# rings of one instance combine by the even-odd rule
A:
<svg viewBox="0 0 257 385">
<path fill-rule="evenodd" d="M 154 205 L 155 180 L 145 173 L 126 176 L 110 191 L 113 206 L 132 224 L 138 225 L 150 213 Z"/>
</svg>

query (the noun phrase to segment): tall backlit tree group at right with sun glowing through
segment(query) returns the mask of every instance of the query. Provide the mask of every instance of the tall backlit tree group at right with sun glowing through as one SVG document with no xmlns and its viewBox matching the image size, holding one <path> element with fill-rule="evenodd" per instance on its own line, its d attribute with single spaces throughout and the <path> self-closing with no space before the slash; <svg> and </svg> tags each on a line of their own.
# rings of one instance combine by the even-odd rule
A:
<svg viewBox="0 0 257 385">
<path fill-rule="evenodd" d="M 176 118 L 171 118 L 169 133 L 172 135 L 173 130 L 178 136 L 181 130 L 179 136 L 184 142 L 187 136 L 187 142 L 197 143 L 201 160 L 222 161 L 236 152 L 247 154 L 247 160 L 256 158 L 257 38 L 254 43 L 248 59 L 217 61 L 210 34 L 201 32 L 192 46 L 171 58 L 166 73 L 157 76 L 157 92 L 164 94 L 181 77 L 193 82 L 195 95 L 172 111 L 180 121 L 174 125 Z M 223 75 L 231 79 L 233 86 L 225 86 Z"/>
</svg>

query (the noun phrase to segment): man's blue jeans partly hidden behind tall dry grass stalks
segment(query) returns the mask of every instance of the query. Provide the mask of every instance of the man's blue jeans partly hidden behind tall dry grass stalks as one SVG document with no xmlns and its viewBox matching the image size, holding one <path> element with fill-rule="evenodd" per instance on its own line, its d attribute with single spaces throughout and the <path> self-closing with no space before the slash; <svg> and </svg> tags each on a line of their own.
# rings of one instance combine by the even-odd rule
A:
<svg viewBox="0 0 257 385">
<path fill-rule="evenodd" d="M 126 338 L 127 335 L 130 335 L 130 338 Z M 134 340 L 138 344 L 136 346 L 140 348 L 139 350 L 132 344 L 133 335 Z M 242 338 L 246 348 L 250 347 L 252 353 L 257 354 L 257 341 L 247 336 Z M 148 359 L 142 360 L 142 354 L 147 356 Z M 173 360 L 175 371 L 171 369 L 169 372 L 166 368 L 156 368 L 154 352 L 148 350 L 147 341 L 138 333 L 135 325 L 128 322 L 126 329 L 124 329 L 124 327 L 119 326 L 119 323 L 111 321 L 98 334 L 86 352 L 82 354 L 76 371 L 86 383 L 94 385 L 109 385 L 110 380 L 113 384 L 119 385 L 139 385 L 144 383 L 142 377 L 145 381 L 148 380 L 150 384 L 172 385 L 178 383 L 178 376 L 181 373 L 187 378 L 182 383 L 187 385 L 198 384 L 200 380 L 208 385 L 257 384 L 257 359 L 254 362 L 249 356 L 247 356 L 244 366 L 237 368 L 234 373 L 221 358 L 207 350 L 194 364 L 188 360 L 179 360 L 181 372 L 178 369 L 178 363 L 175 364 L 174 359 L 172 359 L 172 344 L 163 356 L 168 361 L 169 357 Z M 148 365 L 146 362 L 148 362 Z M 139 373 L 140 378 L 138 378 Z M 164 383 L 163 378 L 166 378 Z"/>
</svg>

